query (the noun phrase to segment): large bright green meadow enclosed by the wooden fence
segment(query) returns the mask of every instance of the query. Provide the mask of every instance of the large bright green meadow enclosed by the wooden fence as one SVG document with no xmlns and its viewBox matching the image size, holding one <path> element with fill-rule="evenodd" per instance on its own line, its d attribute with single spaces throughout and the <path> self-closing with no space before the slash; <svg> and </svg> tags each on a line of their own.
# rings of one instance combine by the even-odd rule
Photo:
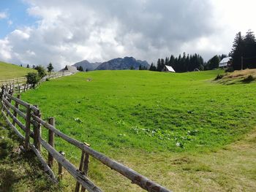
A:
<svg viewBox="0 0 256 192">
<path fill-rule="evenodd" d="M 214 82 L 221 73 L 78 73 L 45 82 L 22 98 L 38 104 L 43 118 L 56 117 L 65 134 L 167 188 L 253 191 L 256 83 Z M 56 147 L 78 164 L 79 150 L 59 138 Z M 69 191 L 74 182 L 66 177 Z M 139 190 L 96 161 L 89 177 L 105 191 Z"/>
</svg>

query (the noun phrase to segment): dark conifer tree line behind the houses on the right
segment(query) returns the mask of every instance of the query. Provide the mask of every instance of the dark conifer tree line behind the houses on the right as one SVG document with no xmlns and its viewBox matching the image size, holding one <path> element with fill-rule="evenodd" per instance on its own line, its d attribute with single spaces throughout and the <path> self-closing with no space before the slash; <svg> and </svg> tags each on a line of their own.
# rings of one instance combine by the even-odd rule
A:
<svg viewBox="0 0 256 192">
<path fill-rule="evenodd" d="M 219 68 L 219 62 L 227 56 L 231 57 L 231 70 L 256 68 L 255 34 L 251 30 L 247 31 L 245 36 L 238 32 L 233 42 L 233 48 L 228 55 L 214 55 L 207 62 L 203 61 L 202 56 L 197 53 L 194 55 L 183 53 L 182 56 L 180 54 L 178 57 L 170 55 L 170 58 L 158 58 L 157 64 L 152 63 L 149 70 L 162 72 L 165 65 L 172 66 L 176 72 L 192 72 L 197 71 L 197 69 L 200 71 L 212 70 Z"/>
</svg>

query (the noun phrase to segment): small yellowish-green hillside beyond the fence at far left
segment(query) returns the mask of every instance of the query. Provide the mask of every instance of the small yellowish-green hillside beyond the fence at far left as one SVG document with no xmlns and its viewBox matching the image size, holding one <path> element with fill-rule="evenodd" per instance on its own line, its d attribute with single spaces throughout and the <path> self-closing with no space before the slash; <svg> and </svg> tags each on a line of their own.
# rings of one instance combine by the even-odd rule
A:
<svg viewBox="0 0 256 192">
<path fill-rule="evenodd" d="M 14 77 L 24 77 L 28 72 L 31 71 L 33 71 L 33 69 L 27 69 L 15 64 L 7 64 L 0 61 L 0 80 L 9 80 Z"/>
</svg>

